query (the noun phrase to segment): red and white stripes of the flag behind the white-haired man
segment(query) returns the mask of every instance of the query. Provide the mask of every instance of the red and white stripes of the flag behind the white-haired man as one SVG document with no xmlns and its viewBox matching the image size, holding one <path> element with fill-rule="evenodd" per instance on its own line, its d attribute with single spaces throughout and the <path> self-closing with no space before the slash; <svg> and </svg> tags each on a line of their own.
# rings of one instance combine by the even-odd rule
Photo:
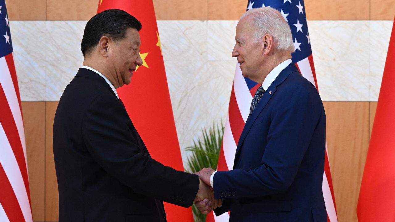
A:
<svg viewBox="0 0 395 222">
<path fill-rule="evenodd" d="M 310 83 L 312 83 L 318 90 L 312 55 L 297 62 L 295 65 L 297 66 L 303 77 L 310 81 Z M 225 122 L 224 137 L 222 140 L 222 147 L 218 159 L 217 170 L 226 171 L 233 169 L 233 162 L 235 160 L 237 143 L 239 142 L 239 137 L 241 135 L 241 132 L 243 131 L 245 122 L 250 112 L 251 101 L 257 88 L 258 86 L 253 87 L 251 90 L 248 90 L 246 81 L 241 75 L 239 63 L 237 63 L 235 77 L 233 81 L 233 88 L 229 101 L 229 112 Z M 327 150 L 325 152 L 325 169 L 324 179 L 322 183 L 322 192 L 324 194 L 328 221 L 337 222 L 335 197 L 333 195 L 332 178 L 329 168 Z M 228 222 L 229 213 L 222 214 L 218 217 L 215 216 L 215 214 L 210 213 L 207 215 L 207 222 L 212 221 Z"/>
</svg>

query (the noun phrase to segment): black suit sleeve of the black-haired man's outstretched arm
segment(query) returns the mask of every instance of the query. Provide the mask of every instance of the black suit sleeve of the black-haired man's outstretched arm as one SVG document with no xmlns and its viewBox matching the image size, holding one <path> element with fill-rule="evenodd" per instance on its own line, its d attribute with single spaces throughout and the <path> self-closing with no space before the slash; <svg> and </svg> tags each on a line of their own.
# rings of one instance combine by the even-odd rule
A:
<svg viewBox="0 0 395 222">
<path fill-rule="evenodd" d="M 199 189 L 199 177 L 140 153 L 129 121 L 124 107 L 111 96 L 94 99 L 82 124 L 83 139 L 92 158 L 135 192 L 182 207 L 191 206 Z"/>
</svg>

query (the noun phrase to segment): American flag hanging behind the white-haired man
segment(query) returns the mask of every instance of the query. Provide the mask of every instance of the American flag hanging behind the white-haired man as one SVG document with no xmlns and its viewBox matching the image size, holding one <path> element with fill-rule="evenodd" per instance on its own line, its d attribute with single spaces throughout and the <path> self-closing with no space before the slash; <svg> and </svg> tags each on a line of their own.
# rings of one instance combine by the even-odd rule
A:
<svg viewBox="0 0 395 222">
<path fill-rule="evenodd" d="M 318 90 L 303 0 L 248 1 L 247 10 L 261 7 L 272 7 L 277 9 L 288 22 L 292 32 L 293 44 L 295 46 L 295 52 L 292 53 L 292 61 L 297 66 L 300 73 Z M 233 169 L 237 143 L 239 142 L 239 137 L 248 118 L 252 98 L 258 87 L 259 85 L 257 83 L 241 75 L 239 64 L 237 64 L 217 170 Z M 325 169 L 322 192 L 324 194 L 327 210 L 327 220 L 330 222 L 337 222 L 335 196 L 333 194 L 331 171 L 329 169 L 327 152 L 325 152 Z M 210 213 L 207 216 L 207 221 L 222 222 L 228 220 L 229 214 L 222 214 L 216 217 L 215 214 Z"/>
</svg>

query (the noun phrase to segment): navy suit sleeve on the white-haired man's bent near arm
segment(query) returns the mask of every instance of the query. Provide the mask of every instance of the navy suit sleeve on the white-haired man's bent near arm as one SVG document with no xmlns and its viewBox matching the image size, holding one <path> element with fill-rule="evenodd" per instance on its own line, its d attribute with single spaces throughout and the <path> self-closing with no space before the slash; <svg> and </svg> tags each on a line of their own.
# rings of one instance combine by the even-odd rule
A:
<svg viewBox="0 0 395 222">
<path fill-rule="evenodd" d="M 277 96 L 283 99 L 276 101 L 271 112 L 262 165 L 217 171 L 213 178 L 216 199 L 277 194 L 292 184 L 322 116 L 322 103 L 297 85 L 280 93 Z"/>
</svg>

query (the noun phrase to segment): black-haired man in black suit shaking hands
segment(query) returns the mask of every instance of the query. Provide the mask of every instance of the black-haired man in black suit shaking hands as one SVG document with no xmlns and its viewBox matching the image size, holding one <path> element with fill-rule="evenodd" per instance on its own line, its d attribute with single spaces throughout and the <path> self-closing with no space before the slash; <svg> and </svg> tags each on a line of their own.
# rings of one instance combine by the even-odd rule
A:
<svg viewBox="0 0 395 222">
<path fill-rule="evenodd" d="M 85 27 L 83 66 L 64 90 L 54 121 L 60 222 L 163 222 L 162 201 L 189 207 L 196 196 L 213 200 L 197 175 L 150 157 L 118 98 L 116 88 L 129 84 L 142 64 L 140 29 L 118 9 L 95 15 Z"/>
</svg>

